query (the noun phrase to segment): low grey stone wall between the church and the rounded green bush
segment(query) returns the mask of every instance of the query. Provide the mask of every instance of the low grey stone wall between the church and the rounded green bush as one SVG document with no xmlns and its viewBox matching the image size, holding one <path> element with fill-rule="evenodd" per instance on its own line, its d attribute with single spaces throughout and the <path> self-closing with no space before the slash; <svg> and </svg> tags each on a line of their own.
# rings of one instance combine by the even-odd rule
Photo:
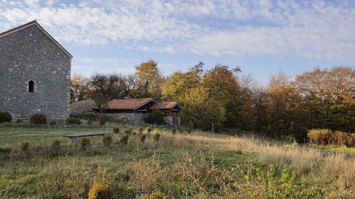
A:
<svg viewBox="0 0 355 199">
<path fill-rule="evenodd" d="M 100 113 L 71 113 L 71 117 L 85 120 L 97 120 Z M 108 121 L 121 121 L 125 123 L 144 123 L 148 114 L 122 113 L 122 114 L 104 114 Z"/>
</svg>

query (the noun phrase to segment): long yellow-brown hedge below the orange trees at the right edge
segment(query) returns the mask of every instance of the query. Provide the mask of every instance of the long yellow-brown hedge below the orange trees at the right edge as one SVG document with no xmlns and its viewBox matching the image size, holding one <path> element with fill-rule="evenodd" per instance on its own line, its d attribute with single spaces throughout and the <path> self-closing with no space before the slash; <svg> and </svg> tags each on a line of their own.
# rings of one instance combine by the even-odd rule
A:
<svg viewBox="0 0 355 199">
<path fill-rule="evenodd" d="M 329 129 L 311 129 L 308 131 L 311 143 L 319 145 L 337 145 L 355 147 L 355 133 L 331 131 Z"/>
</svg>

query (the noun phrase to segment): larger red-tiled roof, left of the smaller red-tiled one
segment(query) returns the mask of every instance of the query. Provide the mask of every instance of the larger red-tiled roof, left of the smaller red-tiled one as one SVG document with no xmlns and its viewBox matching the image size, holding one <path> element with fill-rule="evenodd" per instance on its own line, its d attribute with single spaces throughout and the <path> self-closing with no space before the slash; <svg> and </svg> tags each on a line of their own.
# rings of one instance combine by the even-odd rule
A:
<svg viewBox="0 0 355 199">
<path fill-rule="evenodd" d="M 108 102 L 108 109 L 115 110 L 137 110 L 154 100 L 152 98 L 142 99 L 114 99 Z M 155 102 L 154 102 L 155 103 Z"/>
</svg>

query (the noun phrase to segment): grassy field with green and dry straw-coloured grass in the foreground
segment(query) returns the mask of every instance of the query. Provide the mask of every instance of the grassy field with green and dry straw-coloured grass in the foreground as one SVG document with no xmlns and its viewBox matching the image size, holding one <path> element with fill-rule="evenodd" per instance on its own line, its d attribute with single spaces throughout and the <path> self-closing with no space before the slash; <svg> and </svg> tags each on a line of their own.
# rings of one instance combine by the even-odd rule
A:
<svg viewBox="0 0 355 199">
<path fill-rule="evenodd" d="M 119 133 L 108 147 L 101 136 L 89 137 L 87 149 L 63 137 L 111 129 L 1 126 L 0 198 L 87 198 L 94 183 L 108 184 L 114 198 L 159 189 L 168 199 L 355 197 L 353 149 L 162 129 L 158 142 L 149 133 L 144 142 L 131 134 L 122 144 Z M 59 148 L 51 145 L 55 139 Z M 27 152 L 19 151 L 22 141 L 30 144 Z"/>
</svg>

